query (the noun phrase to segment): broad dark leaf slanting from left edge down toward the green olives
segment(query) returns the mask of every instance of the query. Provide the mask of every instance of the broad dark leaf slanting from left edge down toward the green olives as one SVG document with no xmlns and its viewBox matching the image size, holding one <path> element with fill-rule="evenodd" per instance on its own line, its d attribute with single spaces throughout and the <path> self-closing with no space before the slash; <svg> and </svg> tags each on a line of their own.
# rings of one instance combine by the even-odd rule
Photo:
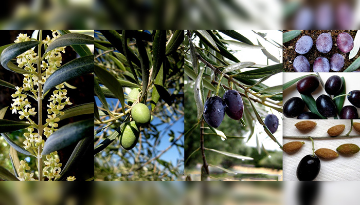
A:
<svg viewBox="0 0 360 205">
<path fill-rule="evenodd" d="M 105 85 L 106 88 L 109 88 L 110 91 L 120 100 L 121 107 L 125 108 L 124 92 L 116 77 L 106 69 L 99 66 L 95 66 L 95 74 L 100 78 L 103 85 Z M 122 112 L 125 113 L 125 109 L 122 109 Z"/>
</svg>

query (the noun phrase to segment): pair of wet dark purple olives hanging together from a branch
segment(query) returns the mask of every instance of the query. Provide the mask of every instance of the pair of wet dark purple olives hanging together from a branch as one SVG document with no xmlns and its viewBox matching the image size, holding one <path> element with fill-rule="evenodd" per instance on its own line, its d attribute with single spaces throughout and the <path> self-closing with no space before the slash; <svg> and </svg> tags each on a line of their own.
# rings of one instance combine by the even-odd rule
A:
<svg viewBox="0 0 360 205">
<path fill-rule="evenodd" d="M 217 128 L 224 119 L 225 112 L 231 119 L 239 120 L 243 116 L 243 100 L 236 90 L 228 90 L 223 98 L 212 96 L 204 105 L 204 120 L 206 123 Z"/>
</svg>

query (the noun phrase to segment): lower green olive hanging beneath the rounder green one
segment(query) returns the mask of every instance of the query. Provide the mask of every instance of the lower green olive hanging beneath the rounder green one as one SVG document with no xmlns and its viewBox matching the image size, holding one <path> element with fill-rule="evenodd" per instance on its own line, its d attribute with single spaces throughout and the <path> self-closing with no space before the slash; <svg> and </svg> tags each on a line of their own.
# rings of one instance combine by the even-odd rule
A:
<svg viewBox="0 0 360 205">
<path fill-rule="evenodd" d="M 127 122 L 120 134 L 120 145 L 125 150 L 131 150 L 136 146 L 139 139 L 139 128 L 135 121 Z"/>
</svg>

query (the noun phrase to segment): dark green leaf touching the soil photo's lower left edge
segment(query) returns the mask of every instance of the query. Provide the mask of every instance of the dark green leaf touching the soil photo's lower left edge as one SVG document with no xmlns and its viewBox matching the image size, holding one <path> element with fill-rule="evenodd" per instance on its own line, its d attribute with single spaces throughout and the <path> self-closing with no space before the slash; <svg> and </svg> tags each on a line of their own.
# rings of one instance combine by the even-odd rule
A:
<svg viewBox="0 0 360 205">
<path fill-rule="evenodd" d="M 250 78 L 250 79 L 259 79 L 267 75 L 274 75 L 276 73 L 282 72 L 282 64 L 276 64 L 272 66 L 267 66 L 264 68 L 259 68 L 255 70 L 245 71 L 237 74 L 238 77 Z"/>
</svg>

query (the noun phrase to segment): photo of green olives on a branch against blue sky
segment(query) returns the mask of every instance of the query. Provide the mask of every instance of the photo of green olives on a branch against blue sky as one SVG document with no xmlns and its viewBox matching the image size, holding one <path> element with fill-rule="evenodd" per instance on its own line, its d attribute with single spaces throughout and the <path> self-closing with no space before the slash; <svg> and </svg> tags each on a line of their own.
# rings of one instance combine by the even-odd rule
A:
<svg viewBox="0 0 360 205">
<path fill-rule="evenodd" d="M 95 30 L 96 181 L 184 177 L 184 30 Z"/>
</svg>

